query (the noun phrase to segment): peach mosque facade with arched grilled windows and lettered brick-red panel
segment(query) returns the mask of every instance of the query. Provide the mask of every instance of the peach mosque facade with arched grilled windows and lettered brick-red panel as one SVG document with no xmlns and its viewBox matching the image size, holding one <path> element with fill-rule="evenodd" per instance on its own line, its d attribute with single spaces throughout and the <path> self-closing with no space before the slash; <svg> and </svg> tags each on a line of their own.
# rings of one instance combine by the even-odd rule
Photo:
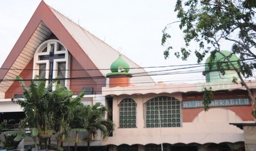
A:
<svg viewBox="0 0 256 151">
<path fill-rule="evenodd" d="M 255 96 L 254 82 L 247 84 Z M 103 142 L 112 150 L 245 149 L 243 130 L 231 123 L 254 123 L 252 102 L 243 86 L 226 77 L 195 84 L 111 85 L 102 94 L 112 100 L 116 129 Z M 203 88 L 210 87 L 214 100 L 205 112 Z"/>
</svg>

